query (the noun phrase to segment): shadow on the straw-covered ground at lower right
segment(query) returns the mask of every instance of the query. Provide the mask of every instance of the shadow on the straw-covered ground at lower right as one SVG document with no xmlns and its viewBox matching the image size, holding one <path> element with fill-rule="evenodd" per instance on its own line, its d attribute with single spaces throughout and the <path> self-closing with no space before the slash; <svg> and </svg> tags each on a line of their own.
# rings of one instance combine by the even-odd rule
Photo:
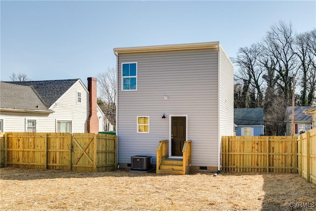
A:
<svg viewBox="0 0 316 211">
<path fill-rule="evenodd" d="M 316 185 L 295 173 L 222 172 L 221 175 L 260 176 L 261 211 L 316 211 Z M 249 177 L 250 176 L 250 177 Z M 237 179 L 236 179 L 237 180 Z M 240 179 L 238 179 L 240 180 Z M 245 179 L 245 183 L 247 180 Z M 254 188 L 254 185 L 252 186 Z M 250 194 L 250 193 L 249 193 Z M 246 208 L 245 208 L 246 209 Z"/>
</svg>

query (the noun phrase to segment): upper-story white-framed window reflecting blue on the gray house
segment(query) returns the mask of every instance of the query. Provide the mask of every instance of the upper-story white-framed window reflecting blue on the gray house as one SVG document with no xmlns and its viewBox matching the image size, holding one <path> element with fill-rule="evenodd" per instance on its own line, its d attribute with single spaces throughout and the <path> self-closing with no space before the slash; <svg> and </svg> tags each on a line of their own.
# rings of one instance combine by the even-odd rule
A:
<svg viewBox="0 0 316 211">
<path fill-rule="evenodd" d="M 137 63 L 122 63 L 122 90 L 137 90 Z"/>
</svg>

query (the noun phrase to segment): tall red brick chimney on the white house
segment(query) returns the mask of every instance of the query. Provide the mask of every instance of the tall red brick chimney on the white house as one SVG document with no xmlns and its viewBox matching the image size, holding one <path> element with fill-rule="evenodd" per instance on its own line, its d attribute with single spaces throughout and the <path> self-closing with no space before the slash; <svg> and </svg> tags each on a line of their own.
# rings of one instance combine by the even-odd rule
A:
<svg viewBox="0 0 316 211">
<path fill-rule="evenodd" d="M 97 79 L 88 78 L 89 118 L 87 130 L 89 133 L 99 132 L 99 118 L 97 116 Z"/>
</svg>

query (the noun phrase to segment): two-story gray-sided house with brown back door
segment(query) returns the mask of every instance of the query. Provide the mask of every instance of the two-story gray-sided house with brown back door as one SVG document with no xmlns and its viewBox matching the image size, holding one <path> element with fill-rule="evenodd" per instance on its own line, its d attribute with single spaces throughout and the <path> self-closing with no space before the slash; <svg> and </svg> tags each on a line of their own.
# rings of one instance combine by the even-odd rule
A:
<svg viewBox="0 0 316 211">
<path fill-rule="evenodd" d="M 221 136 L 234 133 L 234 68 L 219 42 L 114 48 L 118 69 L 118 163 L 147 155 L 159 140 L 191 169 L 219 170 Z"/>
</svg>

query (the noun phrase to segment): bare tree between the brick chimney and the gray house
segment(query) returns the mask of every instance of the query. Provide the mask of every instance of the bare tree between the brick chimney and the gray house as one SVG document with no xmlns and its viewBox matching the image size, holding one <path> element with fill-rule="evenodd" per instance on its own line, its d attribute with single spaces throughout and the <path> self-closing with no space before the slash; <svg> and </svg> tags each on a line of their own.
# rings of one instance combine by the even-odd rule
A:
<svg viewBox="0 0 316 211">
<path fill-rule="evenodd" d="M 107 120 L 116 129 L 116 97 L 117 97 L 117 71 L 116 68 L 108 68 L 106 72 L 97 75 L 99 86 L 98 104 L 105 113 Z M 109 123 L 106 121 L 105 129 L 109 129 Z"/>
</svg>

